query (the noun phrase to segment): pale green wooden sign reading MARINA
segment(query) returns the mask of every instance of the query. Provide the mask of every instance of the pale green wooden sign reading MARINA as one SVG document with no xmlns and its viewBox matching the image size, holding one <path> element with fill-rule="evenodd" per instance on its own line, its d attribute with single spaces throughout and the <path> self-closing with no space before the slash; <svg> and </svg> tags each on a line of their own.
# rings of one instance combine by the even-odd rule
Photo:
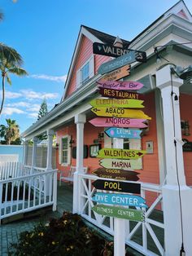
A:
<svg viewBox="0 0 192 256">
<path fill-rule="evenodd" d="M 141 170 L 142 161 L 140 159 L 136 160 L 120 160 L 120 159 L 101 159 L 99 160 L 99 165 L 107 169 L 117 169 L 117 170 Z"/>
</svg>

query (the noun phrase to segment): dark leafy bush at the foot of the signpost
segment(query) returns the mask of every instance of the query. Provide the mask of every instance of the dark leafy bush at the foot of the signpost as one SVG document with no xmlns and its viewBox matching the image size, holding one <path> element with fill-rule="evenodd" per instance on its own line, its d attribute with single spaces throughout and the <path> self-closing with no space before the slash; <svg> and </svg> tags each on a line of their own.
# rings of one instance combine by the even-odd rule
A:
<svg viewBox="0 0 192 256">
<path fill-rule="evenodd" d="M 52 218 L 46 225 L 40 223 L 33 231 L 20 233 L 10 255 L 111 256 L 113 243 L 86 227 L 78 214 L 64 212 L 62 218 Z"/>
</svg>

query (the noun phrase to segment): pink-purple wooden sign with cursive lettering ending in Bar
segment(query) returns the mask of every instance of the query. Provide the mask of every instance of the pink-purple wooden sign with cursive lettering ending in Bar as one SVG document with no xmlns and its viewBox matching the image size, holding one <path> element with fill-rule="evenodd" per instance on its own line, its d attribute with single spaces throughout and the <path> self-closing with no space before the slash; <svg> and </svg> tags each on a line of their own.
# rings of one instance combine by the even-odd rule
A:
<svg viewBox="0 0 192 256">
<path fill-rule="evenodd" d="M 99 80 L 98 87 L 115 90 L 139 90 L 143 84 L 135 81 L 105 81 Z"/>
</svg>

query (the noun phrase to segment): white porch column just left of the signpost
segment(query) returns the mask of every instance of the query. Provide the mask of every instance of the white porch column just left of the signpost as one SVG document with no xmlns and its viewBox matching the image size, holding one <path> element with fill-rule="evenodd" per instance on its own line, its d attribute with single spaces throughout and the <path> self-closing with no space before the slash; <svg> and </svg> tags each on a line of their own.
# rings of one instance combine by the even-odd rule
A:
<svg viewBox="0 0 192 256">
<path fill-rule="evenodd" d="M 83 186 L 78 174 L 83 173 L 83 145 L 84 145 L 84 124 L 86 122 L 85 114 L 76 114 L 76 172 L 73 181 L 73 213 L 81 214 L 84 200 L 81 198 Z"/>
</svg>

